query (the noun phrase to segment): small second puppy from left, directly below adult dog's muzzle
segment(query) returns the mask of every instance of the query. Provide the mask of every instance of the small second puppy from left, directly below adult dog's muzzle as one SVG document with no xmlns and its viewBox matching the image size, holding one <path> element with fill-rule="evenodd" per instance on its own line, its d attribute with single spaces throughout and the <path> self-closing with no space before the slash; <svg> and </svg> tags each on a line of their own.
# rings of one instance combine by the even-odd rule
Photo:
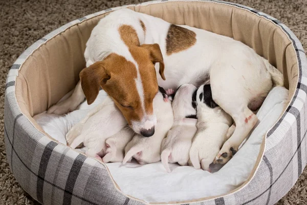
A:
<svg viewBox="0 0 307 205">
<path fill-rule="evenodd" d="M 131 129 L 123 128 L 121 131 L 105 140 L 105 148 L 103 151 L 104 157 L 102 161 L 107 162 L 122 162 L 125 154 L 125 147 L 132 139 L 135 132 Z"/>
</svg>

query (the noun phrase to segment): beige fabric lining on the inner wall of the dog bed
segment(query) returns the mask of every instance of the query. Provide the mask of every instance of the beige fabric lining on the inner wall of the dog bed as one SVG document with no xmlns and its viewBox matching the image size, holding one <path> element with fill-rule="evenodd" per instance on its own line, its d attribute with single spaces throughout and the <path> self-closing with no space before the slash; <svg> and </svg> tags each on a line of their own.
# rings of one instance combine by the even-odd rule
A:
<svg viewBox="0 0 307 205">
<path fill-rule="evenodd" d="M 212 2 L 168 2 L 129 8 L 173 24 L 189 25 L 242 41 L 283 73 L 291 100 L 298 73 L 295 50 L 288 36 L 264 17 Z M 86 19 L 48 40 L 22 65 L 16 79 L 16 96 L 21 111 L 33 124 L 31 116 L 47 110 L 77 84 L 79 72 L 85 67 L 86 41 L 104 15 Z"/>
</svg>

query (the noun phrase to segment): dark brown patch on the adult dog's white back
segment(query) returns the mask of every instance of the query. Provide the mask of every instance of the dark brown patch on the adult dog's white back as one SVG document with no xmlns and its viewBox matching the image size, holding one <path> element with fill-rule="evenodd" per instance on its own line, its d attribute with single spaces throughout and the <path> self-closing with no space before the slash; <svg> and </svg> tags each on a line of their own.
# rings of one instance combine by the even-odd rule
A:
<svg viewBox="0 0 307 205">
<path fill-rule="evenodd" d="M 186 50 L 196 43 L 196 33 L 171 24 L 166 36 L 166 54 L 171 55 Z"/>
</svg>

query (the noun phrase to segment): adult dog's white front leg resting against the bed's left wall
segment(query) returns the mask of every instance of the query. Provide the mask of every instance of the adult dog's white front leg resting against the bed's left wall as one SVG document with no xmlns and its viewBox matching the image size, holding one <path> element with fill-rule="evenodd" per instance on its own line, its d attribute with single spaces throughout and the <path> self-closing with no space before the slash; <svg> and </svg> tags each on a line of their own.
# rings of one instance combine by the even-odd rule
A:
<svg viewBox="0 0 307 205">
<path fill-rule="evenodd" d="M 84 98 L 85 98 L 85 95 L 81 88 L 81 81 L 79 80 L 77 86 L 74 89 L 73 94 L 69 98 L 63 101 L 60 101 L 57 104 L 51 106 L 48 109 L 47 113 L 62 115 L 62 114 L 74 111 L 78 107 L 78 105 L 82 103 Z"/>
</svg>

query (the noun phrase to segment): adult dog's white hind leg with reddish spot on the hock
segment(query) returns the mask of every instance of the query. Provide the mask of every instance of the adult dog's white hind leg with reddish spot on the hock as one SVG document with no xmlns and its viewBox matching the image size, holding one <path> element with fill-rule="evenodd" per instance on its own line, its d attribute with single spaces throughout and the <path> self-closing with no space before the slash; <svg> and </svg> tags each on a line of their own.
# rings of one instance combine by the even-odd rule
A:
<svg viewBox="0 0 307 205">
<path fill-rule="evenodd" d="M 221 164 L 229 161 L 238 151 L 238 147 L 258 121 L 257 116 L 248 108 L 250 98 L 253 97 L 246 90 L 246 86 L 250 85 L 246 85 L 236 79 L 236 73 L 233 73 L 234 71 L 232 70 L 226 69 L 223 75 L 218 72 L 212 72 L 210 76 L 213 100 L 233 118 L 235 123 L 233 134 L 227 139 L 215 158 L 215 163 Z M 233 76 L 233 78 L 229 76 Z M 233 128 L 229 130 L 228 135 L 231 134 Z"/>
</svg>

